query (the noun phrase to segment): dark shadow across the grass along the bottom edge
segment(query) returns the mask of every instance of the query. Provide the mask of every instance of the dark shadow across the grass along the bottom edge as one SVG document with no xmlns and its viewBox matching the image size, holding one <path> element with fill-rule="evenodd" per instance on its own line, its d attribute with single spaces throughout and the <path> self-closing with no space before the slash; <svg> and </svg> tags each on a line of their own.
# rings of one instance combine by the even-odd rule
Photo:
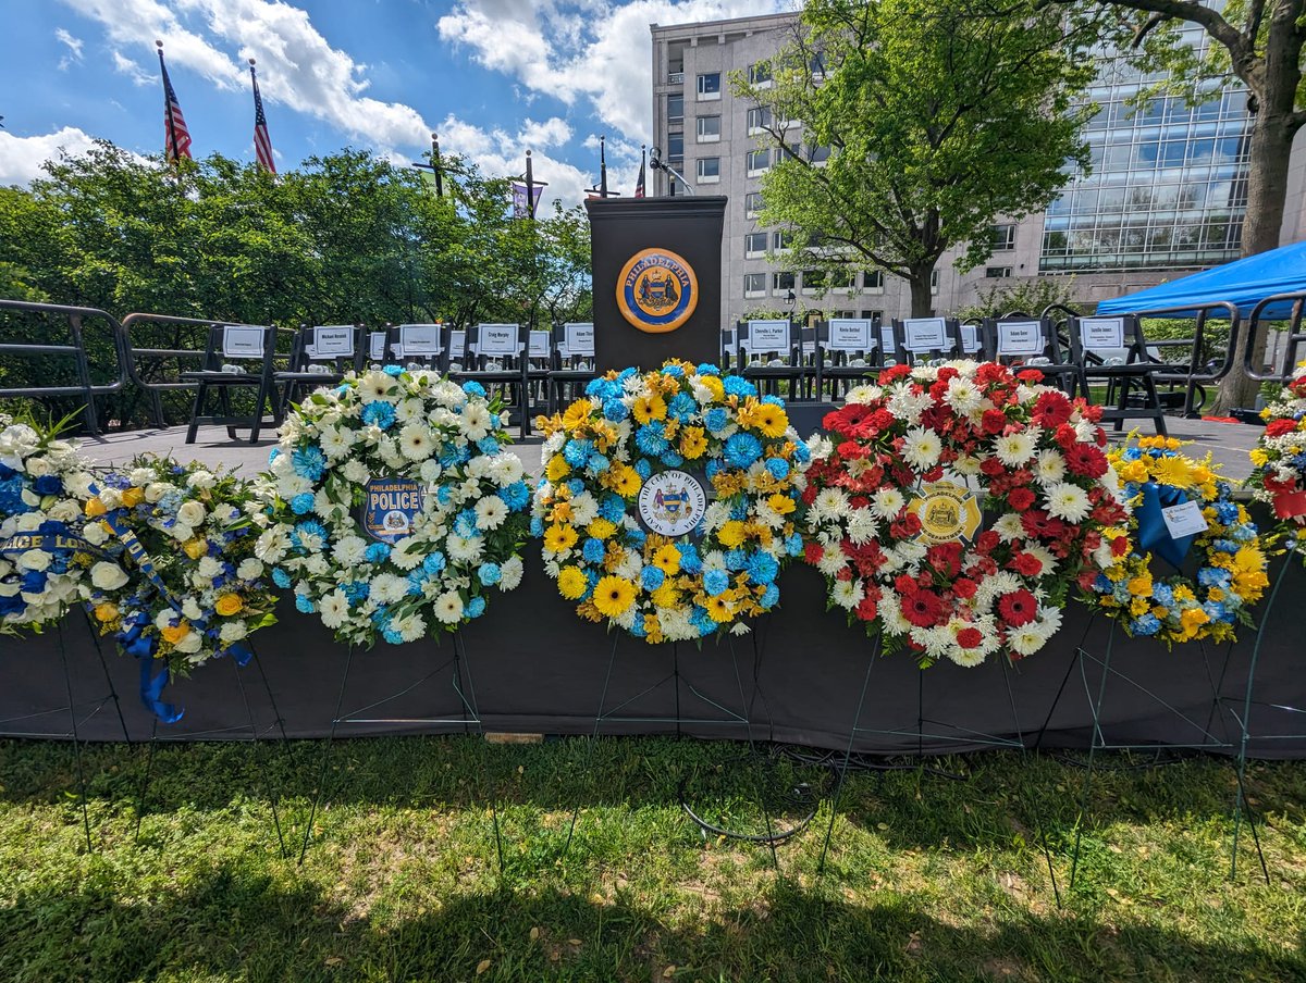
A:
<svg viewBox="0 0 1306 983">
<path fill-rule="evenodd" d="M 910 894 L 866 903 L 777 881 L 743 906 L 673 923 L 665 903 L 545 889 L 407 909 L 346 907 L 308 881 L 242 868 L 128 898 L 108 877 L 0 906 L 0 978 L 40 980 L 1100 980 L 1306 978 L 1286 953 L 1092 914 L 949 924 Z M 1298 940 L 1299 941 L 1299 940 Z M 488 960 L 488 965 L 483 961 Z M 479 975 L 478 975 L 479 967 Z M 669 967 L 675 967 L 669 970 Z"/>
</svg>

